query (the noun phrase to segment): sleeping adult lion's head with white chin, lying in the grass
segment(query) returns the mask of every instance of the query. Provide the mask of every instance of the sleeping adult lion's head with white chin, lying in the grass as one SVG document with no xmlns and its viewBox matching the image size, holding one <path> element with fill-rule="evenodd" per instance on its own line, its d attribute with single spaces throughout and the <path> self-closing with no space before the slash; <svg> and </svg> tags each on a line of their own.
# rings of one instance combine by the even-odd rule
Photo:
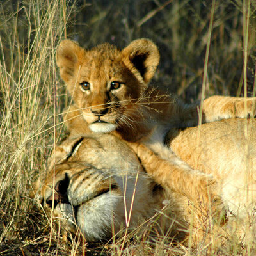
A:
<svg viewBox="0 0 256 256">
<path fill-rule="evenodd" d="M 63 226 L 74 233 L 81 230 L 87 241 L 109 239 L 122 227 L 137 227 L 167 199 L 134 152 L 108 134 L 68 139 L 57 147 L 40 195 L 42 205 L 53 209 Z M 157 225 L 161 218 L 156 218 Z M 174 213 L 161 228 L 171 230 L 173 218 Z"/>
</svg>

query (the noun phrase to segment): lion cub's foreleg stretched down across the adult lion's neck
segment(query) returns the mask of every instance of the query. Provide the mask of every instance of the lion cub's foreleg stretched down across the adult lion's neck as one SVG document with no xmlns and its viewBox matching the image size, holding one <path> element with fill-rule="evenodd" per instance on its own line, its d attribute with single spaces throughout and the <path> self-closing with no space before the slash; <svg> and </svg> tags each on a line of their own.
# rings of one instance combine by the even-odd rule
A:
<svg viewBox="0 0 256 256">
<path fill-rule="evenodd" d="M 208 217 L 222 212 L 216 180 L 198 170 L 191 169 L 169 148 L 161 150 L 161 157 L 140 143 L 129 143 L 141 160 L 147 173 L 166 189 L 187 196 Z M 164 147 L 164 146 L 163 146 Z M 163 154 L 162 154 L 163 153 Z M 206 215 L 205 215 L 206 214 Z"/>
</svg>

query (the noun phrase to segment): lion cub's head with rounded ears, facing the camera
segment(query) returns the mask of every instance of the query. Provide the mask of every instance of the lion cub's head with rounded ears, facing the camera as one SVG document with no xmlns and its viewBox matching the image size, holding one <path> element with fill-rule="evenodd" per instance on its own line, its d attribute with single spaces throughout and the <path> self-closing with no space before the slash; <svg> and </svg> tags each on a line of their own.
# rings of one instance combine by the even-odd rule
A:
<svg viewBox="0 0 256 256">
<path fill-rule="evenodd" d="M 159 63 L 150 40 L 131 42 L 122 51 L 110 44 L 86 50 L 63 40 L 57 65 L 76 107 L 93 132 L 111 132 L 131 120 L 136 102 L 147 89 Z"/>
</svg>

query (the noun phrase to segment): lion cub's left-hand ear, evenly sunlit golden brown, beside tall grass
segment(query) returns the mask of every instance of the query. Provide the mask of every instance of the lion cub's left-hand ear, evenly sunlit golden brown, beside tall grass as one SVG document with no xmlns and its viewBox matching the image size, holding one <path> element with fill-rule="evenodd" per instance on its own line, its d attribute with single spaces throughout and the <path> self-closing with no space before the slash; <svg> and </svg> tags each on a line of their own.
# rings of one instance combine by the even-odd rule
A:
<svg viewBox="0 0 256 256">
<path fill-rule="evenodd" d="M 56 53 L 56 62 L 60 68 L 60 76 L 68 83 L 79 68 L 79 60 L 84 57 L 84 49 L 76 42 L 63 40 L 60 42 Z"/>
</svg>

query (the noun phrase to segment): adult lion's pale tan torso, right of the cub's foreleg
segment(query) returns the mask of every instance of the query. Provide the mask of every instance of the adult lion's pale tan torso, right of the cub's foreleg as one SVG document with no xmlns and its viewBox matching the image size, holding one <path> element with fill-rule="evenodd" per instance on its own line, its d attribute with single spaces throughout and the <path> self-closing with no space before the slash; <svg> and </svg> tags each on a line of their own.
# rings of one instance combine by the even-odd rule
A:
<svg viewBox="0 0 256 256">
<path fill-rule="evenodd" d="M 228 213 L 239 218 L 255 214 L 255 127 L 254 119 L 222 120 L 218 125 L 204 125 L 201 131 L 197 127 L 180 131 L 170 139 L 180 159 L 214 175 Z"/>
</svg>

